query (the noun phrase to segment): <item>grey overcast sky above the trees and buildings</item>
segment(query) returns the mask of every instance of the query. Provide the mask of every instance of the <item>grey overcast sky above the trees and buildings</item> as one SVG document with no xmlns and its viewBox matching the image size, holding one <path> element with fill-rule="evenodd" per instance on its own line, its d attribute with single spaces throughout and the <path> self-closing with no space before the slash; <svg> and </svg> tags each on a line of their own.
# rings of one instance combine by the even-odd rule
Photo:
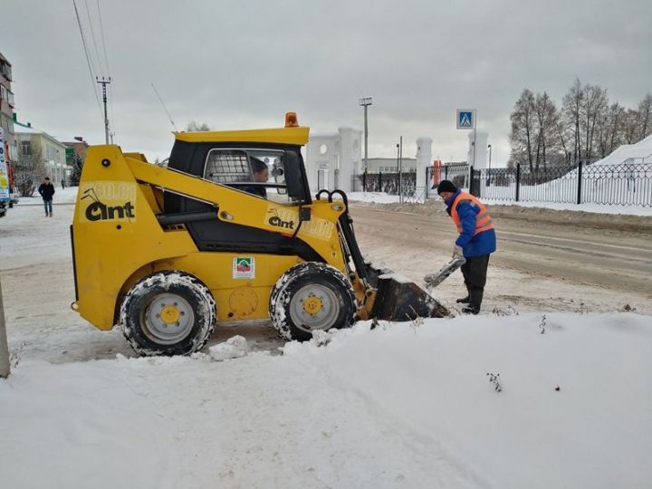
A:
<svg viewBox="0 0 652 489">
<path fill-rule="evenodd" d="M 87 12 L 87 5 L 89 12 Z M 465 159 L 455 109 L 476 109 L 494 164 L 509 157 L 509 113 L 523 88 L 561 103 L 575 77 L 635 106 L 652 91 L 652 2 L 411 0 L 77 0 L 94 75 L 110 75 L 110 122 L 122 149 L 166 158 L 172 126 L 362 128 L 369 158 Z M 15 110 L 57 138 L 101 144 L 72 0 L 3 0 L 0 53 L 13 65 Z M 89 23 L 89 14 L 91 24 Z M 97 47 L 93 43 L 93 34 Z M 98 56 L 99 54 L 99 56 Z M 101 62 L 99 62 L 101 59 Z"/>
</svg>

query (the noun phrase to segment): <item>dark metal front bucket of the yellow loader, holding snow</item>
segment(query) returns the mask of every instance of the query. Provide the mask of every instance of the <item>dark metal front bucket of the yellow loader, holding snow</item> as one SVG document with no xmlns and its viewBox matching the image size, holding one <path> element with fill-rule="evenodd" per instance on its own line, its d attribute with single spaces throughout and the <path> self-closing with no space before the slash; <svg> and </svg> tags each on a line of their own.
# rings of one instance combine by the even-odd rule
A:
<svg viewBox="0 0 652 489">
<path fill-rule="evenodd" d="M 367 264 L 367 279 L 376 287 L 376 301 L 371 317 L 385 321 L 411 321 L 421 318 L 444 318 L 446 306 L 406 277 L 391 270 Z"/>
</svg>

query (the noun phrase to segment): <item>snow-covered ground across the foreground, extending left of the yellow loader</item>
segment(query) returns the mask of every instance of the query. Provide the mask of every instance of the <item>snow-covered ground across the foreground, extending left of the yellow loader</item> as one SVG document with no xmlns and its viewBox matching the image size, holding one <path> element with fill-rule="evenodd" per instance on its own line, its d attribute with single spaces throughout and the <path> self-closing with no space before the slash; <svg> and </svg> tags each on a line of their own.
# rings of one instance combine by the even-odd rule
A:
<svg viewBox="0 0 652 489">
<path fill-rule="evenodd" d="M 209 345 L 236 334 L 248 345 L 214 347 L 222 361 L 209 346 L 191 358 L 129 358 L 119 331 L 96 331 L 69 308 L 72 205 L 62 201 L 57 193 L 53 218 L 21 201 L 0 220 L 14 350 L 0 380 L 3 487 L 652 480 L 650 316 L 528 313 L 373 330 L 368 321 L 321 347 L 275 343 L 282 351 L 257 350 L 249 327 L 218 327 Z M 500 392 L 487 373 L 500 375 Z"/>
</svg>

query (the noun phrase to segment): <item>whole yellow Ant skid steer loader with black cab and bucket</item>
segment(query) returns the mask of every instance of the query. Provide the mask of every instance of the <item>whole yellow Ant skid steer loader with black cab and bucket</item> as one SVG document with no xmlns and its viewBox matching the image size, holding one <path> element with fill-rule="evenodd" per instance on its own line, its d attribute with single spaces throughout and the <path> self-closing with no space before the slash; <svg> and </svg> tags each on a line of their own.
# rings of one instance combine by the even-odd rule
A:
<svg viewBox="0 0 652 489">
<path fill-rule="evenodd" d="M 181 132 L 167 168 L 89 149 L 73 225 L 76 301 L 141 354 L 201 349 L 220 321 L 286 340 L 356 319 L 443 316 L 416 284 L 365 264 L 343 192 L 312 198 L 296 115 L 280 129 Z"/>
</svg>

